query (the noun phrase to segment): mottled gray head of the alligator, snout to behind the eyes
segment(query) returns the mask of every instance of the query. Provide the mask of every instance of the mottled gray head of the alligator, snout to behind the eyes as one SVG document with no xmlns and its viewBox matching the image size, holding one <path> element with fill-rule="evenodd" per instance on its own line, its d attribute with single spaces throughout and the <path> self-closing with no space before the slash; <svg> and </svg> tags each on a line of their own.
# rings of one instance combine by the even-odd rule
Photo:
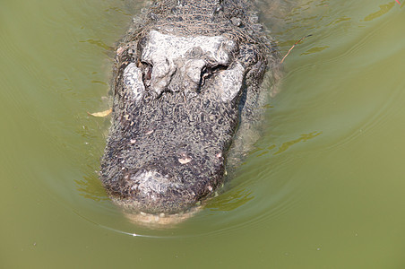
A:
<svg viewBox="0 0 405 269">
<path fill-rule="evenodd" d="M 185 212 L 220 186 L 266 66 L 247 38 L 178 32 L 143 31 L 117 50 L 101 180 L 130 213 Z"/>
</svg>

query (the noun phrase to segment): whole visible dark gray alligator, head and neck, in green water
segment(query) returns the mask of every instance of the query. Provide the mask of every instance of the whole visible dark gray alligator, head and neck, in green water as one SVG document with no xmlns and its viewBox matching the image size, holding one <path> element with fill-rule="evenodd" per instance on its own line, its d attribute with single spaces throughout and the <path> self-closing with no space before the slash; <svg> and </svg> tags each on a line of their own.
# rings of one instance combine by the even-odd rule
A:
<svg viewBox="0 0 405 269">
<path fill-rule="evenodd" d="M 249 148 L 279 76 L 250 1 L 152 2 L 116 47 L 100 169 L 112 201 L 134 216 L 193 212 Z"/>
</svg>

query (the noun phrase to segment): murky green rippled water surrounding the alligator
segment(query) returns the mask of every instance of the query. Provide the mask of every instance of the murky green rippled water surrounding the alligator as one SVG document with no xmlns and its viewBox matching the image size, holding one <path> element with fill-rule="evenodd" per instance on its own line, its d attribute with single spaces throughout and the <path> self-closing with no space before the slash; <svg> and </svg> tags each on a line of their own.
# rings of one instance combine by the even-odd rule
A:
<svg viewBox="0 0 405 269">
<path fill-rule="evenodd" d="M 87 114 L 108 108 L 111 47 L 142 4 L 1 1 L 0 268 L 405 268 L 400 2 L 264 2 L 283 55 L 313 36 L 263 137 L 227 192 L 148 230 L 108 201 L 108 119 Z"/>
</svg>

